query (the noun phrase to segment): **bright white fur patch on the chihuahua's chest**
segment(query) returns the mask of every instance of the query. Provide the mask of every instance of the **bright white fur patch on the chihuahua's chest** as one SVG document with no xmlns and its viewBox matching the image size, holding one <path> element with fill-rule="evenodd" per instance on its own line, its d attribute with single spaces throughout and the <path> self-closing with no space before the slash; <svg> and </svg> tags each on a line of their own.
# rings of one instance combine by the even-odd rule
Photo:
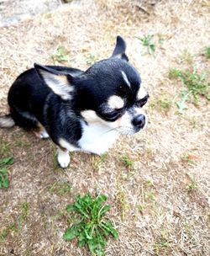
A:
<svg viewBox="0 0 210 256">
<path fill-rule="evenodd" d="M 112 147 L 117 137 L 117 131 L 111 130 L 106 125 L 82 123 L 82 136 L 78 143 L 81 150 L 101 155 Z"/>
</svg>

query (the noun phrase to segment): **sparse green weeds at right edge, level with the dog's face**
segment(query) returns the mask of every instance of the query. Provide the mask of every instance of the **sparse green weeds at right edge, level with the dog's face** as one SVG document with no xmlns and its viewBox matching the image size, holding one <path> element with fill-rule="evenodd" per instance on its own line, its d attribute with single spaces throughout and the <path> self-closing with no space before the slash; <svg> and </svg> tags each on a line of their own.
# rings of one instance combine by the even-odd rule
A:
<svg viewBox="0 0 210 256">
<path fill-rule="evenodd" d="M 198 103 L 199 96 L 203 96 L 207 100 L 210 100 L 210 83 L 206 82 L 205 72 L 198 73 L 196 67 L 193 67 L 192 72 L 171 68 L 169 77 L 180 79 L 186 86 L 186 90 L 181 91 L 181 100 L 176 102 L 180 114 L 183 114 L 184 109 L 186 109 L 186 101 L 191 98 L 193 99 L 193 104 Z"/>
</svg>

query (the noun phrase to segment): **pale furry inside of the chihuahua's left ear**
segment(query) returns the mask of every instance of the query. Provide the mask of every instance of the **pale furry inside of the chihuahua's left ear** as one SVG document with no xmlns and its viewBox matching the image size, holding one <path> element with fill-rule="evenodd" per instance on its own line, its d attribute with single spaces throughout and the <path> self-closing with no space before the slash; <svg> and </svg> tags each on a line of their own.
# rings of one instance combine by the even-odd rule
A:
<svg viewBox="0 0 210 256">
<path fill-rule="evenodd" d="M 40 70 L 45 83 L 53 90 L 53 92 L 59 95 L 62 99 L 71 99 L 71 92 L 74 88 L 67 81 L 65 75 L 55 75 L 45 70 Z"/>
</svg>

